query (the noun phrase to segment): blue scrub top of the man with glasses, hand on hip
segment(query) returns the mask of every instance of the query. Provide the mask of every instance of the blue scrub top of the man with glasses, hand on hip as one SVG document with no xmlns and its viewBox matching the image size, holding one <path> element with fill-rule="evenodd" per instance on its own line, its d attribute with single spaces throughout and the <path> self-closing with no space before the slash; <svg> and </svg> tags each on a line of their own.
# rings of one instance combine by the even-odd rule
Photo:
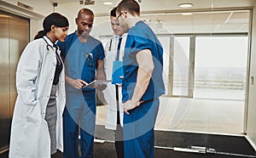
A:
<svg viewBox="0 0 256 158">
<path fill-rule="evenodd" d="M 143 21 L 138 21 L 137 24 L 128 31 L 127 40 L 125 43 L 124 62 L 124 79 L 122 83 L 122 101 L 125 102 L 131 99 L 136 82 L 137 82 L 137 59 L 136 55 L 143 49 L 150 49 L 154 71 L 148 84 L 148 89 L 143 94 L 142 100 L 147 101 L 157 99 L 165 93 L 163 82 L 163 48 L 160 41 L 155 36 L 154 32 Z"/>
</svg>

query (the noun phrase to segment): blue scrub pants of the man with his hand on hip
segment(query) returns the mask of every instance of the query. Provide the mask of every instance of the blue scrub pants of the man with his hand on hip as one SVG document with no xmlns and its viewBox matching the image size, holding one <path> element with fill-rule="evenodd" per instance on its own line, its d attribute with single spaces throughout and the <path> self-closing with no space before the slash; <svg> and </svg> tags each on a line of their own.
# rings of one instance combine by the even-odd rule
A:
<svg viewBox="0 0 256 158">
<path fill-rule="evenodd" d="M 125 158 L 154 157 L 154 123 L 159 103 L 159 99 L 149 100 L 130 110 L 130 115 L 125 113 Z"/>
</svg>

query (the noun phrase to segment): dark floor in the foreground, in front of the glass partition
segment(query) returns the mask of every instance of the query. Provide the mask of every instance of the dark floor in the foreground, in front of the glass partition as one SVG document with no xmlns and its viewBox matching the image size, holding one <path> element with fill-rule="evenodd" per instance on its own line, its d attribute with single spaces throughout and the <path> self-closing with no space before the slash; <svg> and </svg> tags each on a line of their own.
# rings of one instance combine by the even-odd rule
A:
<svg viewBox="0 0 256 158">
<path fill-rule="evenodd" d="M 111 131 L 102 126 L 96 126 L 96 133 L 104 133 L 106 138 L 111 138 Z M 203 138 L 207 138 L 204 140 Z M 206 147 L 204 153 L 181 152 L 175 150 L 189 149 L 191 145 Z M 211 150 L 210 150 L 211 149 Z M 114 144 L 111 141 L 95 142 L 95 158 L 116 158 Z M 58 151 L 52 158 L 61 158 Z M 180 133 L 155 131 L 154 158 L 255 158 L 255 151 L 248 144 L 247 139 L 238 136 L 224 136 L 202 133 Z M 8 158 L 8 152 L 0 155 Z"/>
</svg>

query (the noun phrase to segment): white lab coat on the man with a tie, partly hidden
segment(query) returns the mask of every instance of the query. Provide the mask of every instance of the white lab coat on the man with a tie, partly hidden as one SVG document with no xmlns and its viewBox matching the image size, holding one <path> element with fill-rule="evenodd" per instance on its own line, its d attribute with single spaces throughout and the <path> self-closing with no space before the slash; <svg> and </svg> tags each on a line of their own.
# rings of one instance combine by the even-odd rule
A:
<svg viewBox="0 0 256 158">
<path fill-rule="evenodd" d="M 125 42 L 126 42 L 126 34 L 122 36 L 122 42 L 120 46 L 119 59 L 123 58 L 124 50 L 125 50 Z M 105 47 L 105 72 L 108 80 L 112 78 L 112 69 L 113 69 L 113 61 L 116 58 L 117 47 L 119 43 L 119 36 L 113 35 L 111 40 L 109 40 Z M 107 129 L 116 129 L 116 121 L 117 121 L 117 104 L 115 97 L 115 85 L 108 84 L 108 87 L 103 91 L 104 97 L 108 103 L 108 113 L 106 118 L 105 127 Z M 123 118 L 124 118 L 124 109 L 122 104 L 122 89 L 119 87 L 119 120 L 121 126 L 123 126 Z"/>
</svg>

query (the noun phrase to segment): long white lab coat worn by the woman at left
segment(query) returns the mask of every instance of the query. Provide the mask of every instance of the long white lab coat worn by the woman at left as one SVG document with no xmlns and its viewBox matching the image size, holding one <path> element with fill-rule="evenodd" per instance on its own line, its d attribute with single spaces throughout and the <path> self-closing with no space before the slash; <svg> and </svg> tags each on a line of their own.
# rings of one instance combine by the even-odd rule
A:
<svg viewBox="0 0 256 158">
<path fill-rule="evenodd" d="M 44 41 L 44 39 L 48 42 Z M 27 44 L 16 71 L 17 99 L 12 120 L 9 157 L 49 158 L 50 138 L 44 120 L 55 75 L 55 48 L 44 37 Z M 49 50 L 48 50 L 48 49 Z M 60 51 L 58 52 L 60 54 Z M 63 150 L 62 112 L 65 107 L 64 69 L 57 85 L 57 149 Z"/>
</svg>

